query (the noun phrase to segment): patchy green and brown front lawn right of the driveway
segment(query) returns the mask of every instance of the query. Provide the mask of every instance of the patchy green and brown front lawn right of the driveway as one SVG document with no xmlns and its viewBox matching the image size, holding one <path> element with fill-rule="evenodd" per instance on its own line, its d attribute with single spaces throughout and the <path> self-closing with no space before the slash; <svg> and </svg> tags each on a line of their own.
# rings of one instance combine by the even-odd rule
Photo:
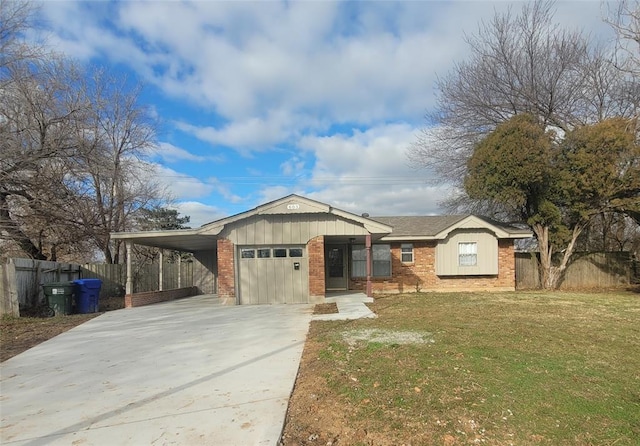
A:
<svg viewBox="0 0 640 446">
<path fill-rule="evenodd" d="M 421 293 L 322 323 L 319 361 L 354 425 L 398 444 L 640 442 L 640 294 Z M 347 342 L 413 331 L 432 342 Z"/>
</svg>

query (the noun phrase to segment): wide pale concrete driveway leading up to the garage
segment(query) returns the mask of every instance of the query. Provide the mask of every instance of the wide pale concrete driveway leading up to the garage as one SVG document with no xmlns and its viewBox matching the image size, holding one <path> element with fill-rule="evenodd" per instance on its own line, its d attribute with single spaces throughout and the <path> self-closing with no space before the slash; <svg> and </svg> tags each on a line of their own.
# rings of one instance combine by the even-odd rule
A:
<svg viewBox="0 0 640 446">
<path fill-rule="evenodd" d="M 0 443 L 274 445 L 311 312 L 197 296 L 106 313 L 0 365 Z"/>
</svg>

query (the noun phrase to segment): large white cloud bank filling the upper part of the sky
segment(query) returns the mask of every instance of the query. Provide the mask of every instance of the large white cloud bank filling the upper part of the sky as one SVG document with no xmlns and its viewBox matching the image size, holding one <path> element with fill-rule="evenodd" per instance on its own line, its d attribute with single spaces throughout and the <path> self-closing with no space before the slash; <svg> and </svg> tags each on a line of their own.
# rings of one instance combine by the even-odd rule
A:
<svg viewBox="0 0 640 446">
<path fill-rule="evenodd" d="M 214 109 L 222 128 L 182 128 L 262 150 L 310 117 L 420 122 L 436 74 L 468 51 L 463 33 L 509 2 L 53 2 L 63 51 L 129 64 L 165 93 Z M 558 20 L 595 26 L 597 2 L 559 2 Z M 95 12 L 99 14 L 95 14 Z M 584 17 L 590 17 L 585 20 Z M 69 20 L 82 17 L 82 20 Z M 111 17 L 110 26 L 100 18 Z M 312 126 L 312 128 L 315 128 Z"/>
</svg>

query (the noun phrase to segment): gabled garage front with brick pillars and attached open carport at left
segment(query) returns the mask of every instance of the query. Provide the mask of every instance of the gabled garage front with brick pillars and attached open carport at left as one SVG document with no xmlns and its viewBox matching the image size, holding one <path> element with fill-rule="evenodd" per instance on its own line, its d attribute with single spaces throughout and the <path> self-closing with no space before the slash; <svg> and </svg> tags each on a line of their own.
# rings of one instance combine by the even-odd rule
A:
<svg viewBox="0 0 640 446">
<path fill-rule="evenodd" d="M 290 195 L 197 229 L 111 237 L 126 243 L 128 295 L 136 243 L 192 252 L 198 293 L 216 293 L 230 304 L 295 304 L 324 302 L 327 291 L 350 289 L 347 247 L 354 243 L 366 246 L 370 296 L 371 246 L 391 230 L 368 216 Z"/>
</svg>

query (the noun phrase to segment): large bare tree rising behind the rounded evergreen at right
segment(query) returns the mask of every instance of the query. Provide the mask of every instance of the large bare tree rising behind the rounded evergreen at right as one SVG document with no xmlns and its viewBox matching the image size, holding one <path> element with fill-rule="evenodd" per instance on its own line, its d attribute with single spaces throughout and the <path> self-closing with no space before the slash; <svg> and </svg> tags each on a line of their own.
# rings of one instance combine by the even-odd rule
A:
<svg viewBox="0 0 640 446">
<path fill-rule="evenodd" d="M 534 115 L 560 132 L 635 115 L 628 99 L 637 85 L 611 69 L 607 51 L 555 24 L 552 2 L 496 14 L 466 40 L 471 56 L 438 79 L 436 110 L 408 151 L 435 182 L 462 192 L 474 145 L 514 115 Z M 469 200 L 458 195 L 453 205 L 460 204 Z"/>
</svg>

